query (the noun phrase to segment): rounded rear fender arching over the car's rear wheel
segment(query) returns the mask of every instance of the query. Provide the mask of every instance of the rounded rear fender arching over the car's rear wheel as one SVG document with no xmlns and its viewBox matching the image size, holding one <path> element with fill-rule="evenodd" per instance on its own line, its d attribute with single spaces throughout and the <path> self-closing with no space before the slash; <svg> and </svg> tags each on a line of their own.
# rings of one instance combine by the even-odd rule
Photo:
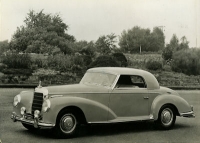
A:
<svg viewBox="0 0 200 143">
<path fill-rule="evenodd" d="M 182 97 L 173 94 L 159 95 L 154 99 L 151 106 L 151 114 L 153 115 L 154 120 L 158 119 L 159 111 L 161 107 L 165 104 L 174 105 L 177 108 L 179 115 L 181 113 L 191 111 L 191 106 Z"/>
</svg>

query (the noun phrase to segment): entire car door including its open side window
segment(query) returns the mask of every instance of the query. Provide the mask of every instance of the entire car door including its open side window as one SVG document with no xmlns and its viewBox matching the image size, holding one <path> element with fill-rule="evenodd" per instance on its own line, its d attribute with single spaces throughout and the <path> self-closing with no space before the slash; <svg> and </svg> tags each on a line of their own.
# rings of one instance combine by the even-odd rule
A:
<svg viewBox="0 0 200 143">
<path fill-rule="evenodd" d="M 132 82 L 135 76 L 123 75 L 110 93 L 109 108 L 117 118 L 148 116 L 148 90 L 145 83 Z M 122 76 L 120 76 L 122 77 Z M 126 77 L 126 78 L 125 78 Z M 141 77 L 140 77 L 141 78 Z"/>
</svg>

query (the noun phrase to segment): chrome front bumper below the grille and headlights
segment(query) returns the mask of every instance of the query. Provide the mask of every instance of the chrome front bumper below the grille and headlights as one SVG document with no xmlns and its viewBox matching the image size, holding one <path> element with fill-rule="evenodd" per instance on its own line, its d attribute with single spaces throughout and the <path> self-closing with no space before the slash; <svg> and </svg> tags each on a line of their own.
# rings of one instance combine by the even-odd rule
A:
<svg viewBox="0 0 200 143">
<path fill-rule="evenodd" d="M 11 115 L 11 119 L 13 120 L 13 122 L 19 121 L 25 124 L 32 125 L 35 128 L 51 129 L 55 126 L 55 124 L 41 122 L 38 120 L 38 118 L 34 118 L 33 120 L 27 120 L 24 117 L 17 116 L 14 112 Z"/>
</svg>

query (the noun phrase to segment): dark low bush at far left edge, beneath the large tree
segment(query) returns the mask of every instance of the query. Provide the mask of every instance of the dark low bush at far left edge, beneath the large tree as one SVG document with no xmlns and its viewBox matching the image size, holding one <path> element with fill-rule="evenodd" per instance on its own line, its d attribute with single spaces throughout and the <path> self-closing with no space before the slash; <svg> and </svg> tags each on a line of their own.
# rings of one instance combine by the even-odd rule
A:
<svg viewBox="0 0 200 143">
<path fill-rule="evenodd" d="M 8 68 L 30 68 L 31 57 L 28 54 L 7 53 L 2 56 L 2 63 Z"/>
</svg>

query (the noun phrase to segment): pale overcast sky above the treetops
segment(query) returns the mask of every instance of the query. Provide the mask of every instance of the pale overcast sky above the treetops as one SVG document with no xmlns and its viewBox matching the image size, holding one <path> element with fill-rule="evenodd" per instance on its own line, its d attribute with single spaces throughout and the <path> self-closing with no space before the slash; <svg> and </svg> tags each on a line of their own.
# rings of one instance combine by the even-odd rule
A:
<svg viewBox="0 0 200 143">
<path fill-rule="evenodd" d="M 30 10 L 59 14 L 77 41 L 163 26 L 165 43 L 176 34 L 200 47 L 200 0 L 0 0 L 0 41 L 11 40 Z"/>
</svg>

